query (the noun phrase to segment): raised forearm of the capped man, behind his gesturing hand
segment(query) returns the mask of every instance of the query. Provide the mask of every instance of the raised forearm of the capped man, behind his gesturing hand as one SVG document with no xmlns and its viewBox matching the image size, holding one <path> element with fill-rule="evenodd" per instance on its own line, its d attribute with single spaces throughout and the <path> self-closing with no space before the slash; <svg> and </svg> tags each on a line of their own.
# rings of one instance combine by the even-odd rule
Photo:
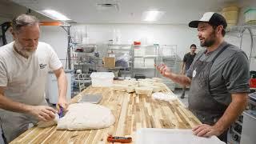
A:
<svg viewBox="0 0 256 144">
<path fill-rule="evenodd" d="M 169 78 L 182 86 L 190 86 L 191 83 L 190 78 L 183 74 L 172 73 Z"/>
</svg>

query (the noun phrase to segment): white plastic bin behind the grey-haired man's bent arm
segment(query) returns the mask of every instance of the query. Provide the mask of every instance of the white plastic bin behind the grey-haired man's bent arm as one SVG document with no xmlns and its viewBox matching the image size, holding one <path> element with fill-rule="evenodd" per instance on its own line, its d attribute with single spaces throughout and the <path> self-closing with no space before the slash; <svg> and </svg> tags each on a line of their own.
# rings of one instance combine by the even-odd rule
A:
<svg viewBox="0 0 256 144">
<path fill-rule="evenodd" d="M 67 91 L 66 91 L 66 100 L 70 100 L 71 98 L 71 76 L 73 74 L 72 70 L 65 70 L 66 78 L 67 78 Z M 48 76 L 48 98 L 49 102 L 52 104 L 57 104 L 58 102 L 58 81 L 53 72 L 49 72 Z"/>
</svg>

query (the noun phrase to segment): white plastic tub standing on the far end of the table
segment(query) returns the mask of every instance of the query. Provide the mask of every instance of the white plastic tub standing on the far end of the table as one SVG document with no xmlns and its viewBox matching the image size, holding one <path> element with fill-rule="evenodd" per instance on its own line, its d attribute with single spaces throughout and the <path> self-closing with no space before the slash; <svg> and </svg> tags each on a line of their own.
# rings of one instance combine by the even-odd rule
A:
<svg viewBox="0 0 256 144">
<path fill-rule="evenodd" d="M 94 72 L 90 74 L 93 87 L 113 86 L 114 74 L 112 72 Z"/>
</svg>

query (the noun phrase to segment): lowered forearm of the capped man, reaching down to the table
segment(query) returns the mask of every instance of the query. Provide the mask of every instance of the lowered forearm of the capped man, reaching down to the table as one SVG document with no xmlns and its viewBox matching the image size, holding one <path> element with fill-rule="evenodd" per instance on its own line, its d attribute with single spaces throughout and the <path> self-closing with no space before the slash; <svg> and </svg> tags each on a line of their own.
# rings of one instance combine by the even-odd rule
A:
<svg viewBox="0 0 256 144">
<path fill-rule="evenodd" d="M 242 97 L 238 95 L 237 97 Z M 244 96 L 245 97 L 245 96 Z M 242 100 L 235 100 L 230 103 L 230 106 L 227 107 L 225 113 L 222 115 L 222 118 L 218 120 L 218 122 L 214 125 L 219 130 L 225 131 L 230 125 L 235 122 L 242 111 L 245 110 L 247 103 L 247 98 L 243 98 Z"/>
</svg>

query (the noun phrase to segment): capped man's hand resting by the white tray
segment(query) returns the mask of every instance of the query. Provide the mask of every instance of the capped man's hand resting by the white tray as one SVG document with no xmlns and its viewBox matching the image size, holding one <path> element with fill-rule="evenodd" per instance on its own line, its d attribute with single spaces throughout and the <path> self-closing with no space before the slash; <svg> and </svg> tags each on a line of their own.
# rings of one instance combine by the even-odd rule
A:
<svg viewBox="0 0 256 144">
<path fill-rule="evenodd" d="M 206 125 L 206 124 L 195 126 L 192 129 L 192 131 L 198 137 L 210 137 L 212 135 L 219 136 L 224 132 L 223 130 L 218 129 L 215 126 L 210 126 L 210 125 Z"/>
</svg>

